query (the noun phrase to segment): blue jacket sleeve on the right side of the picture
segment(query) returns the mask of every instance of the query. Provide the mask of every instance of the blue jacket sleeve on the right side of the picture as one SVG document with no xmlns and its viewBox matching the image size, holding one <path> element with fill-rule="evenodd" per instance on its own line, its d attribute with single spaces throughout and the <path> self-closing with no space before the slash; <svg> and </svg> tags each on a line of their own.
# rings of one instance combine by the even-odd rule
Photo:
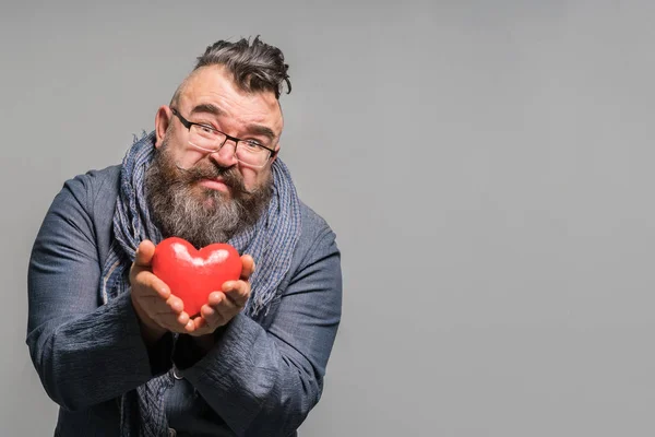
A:
<svg viewBox="0 0 655 437">
<path fill-rule="evenodd" d="M 341 309 L 341 256 L 326 228 L 283 292 L 270 327 L 237 315 L 181 375 L 238 436 L 288 436 L 321 397 Z M 178 340 L 178 368 L 190 342 Z"/>
</svg>

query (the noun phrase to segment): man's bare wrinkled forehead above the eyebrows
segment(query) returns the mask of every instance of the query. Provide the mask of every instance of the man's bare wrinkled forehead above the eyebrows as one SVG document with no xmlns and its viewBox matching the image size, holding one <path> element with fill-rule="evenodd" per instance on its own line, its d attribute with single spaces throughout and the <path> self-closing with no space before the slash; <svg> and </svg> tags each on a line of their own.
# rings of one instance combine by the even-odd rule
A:
<svg viewBox="0 0 655 437">
<path fill-rule="evenodd" d="M 282 132 L 282 110 L 275 94 L 241 90 L 233 74 L 221 66 L 195 70 L 187 78 L 181 90 L 179 105 L 186 114 L 206 104 L 217 106 L 229 121 L 267 126 L 277 135 Z"/>
</svg>

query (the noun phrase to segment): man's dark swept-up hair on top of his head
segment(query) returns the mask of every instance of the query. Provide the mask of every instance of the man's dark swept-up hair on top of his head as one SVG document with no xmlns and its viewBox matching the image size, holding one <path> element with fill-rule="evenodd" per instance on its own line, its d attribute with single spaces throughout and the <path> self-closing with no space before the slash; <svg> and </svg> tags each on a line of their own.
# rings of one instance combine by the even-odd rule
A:
<svg viewBox="0 0 655 437">
<path fill-rule="evenodd" d="M 224 66 L 235 76 L 235 82 L 245 91 L 272 91 L 279 99 L 284 83 L 287 94 L 291 92 L 291 82 L 284 63 L 284 55 L 277 47 L 263 43 L 259 35 L 250 39 L 241 38 L 236 43 L 219 40 L 209 46 L 198 58 L 193 71 L 206 66 Z"/>
</svg>

